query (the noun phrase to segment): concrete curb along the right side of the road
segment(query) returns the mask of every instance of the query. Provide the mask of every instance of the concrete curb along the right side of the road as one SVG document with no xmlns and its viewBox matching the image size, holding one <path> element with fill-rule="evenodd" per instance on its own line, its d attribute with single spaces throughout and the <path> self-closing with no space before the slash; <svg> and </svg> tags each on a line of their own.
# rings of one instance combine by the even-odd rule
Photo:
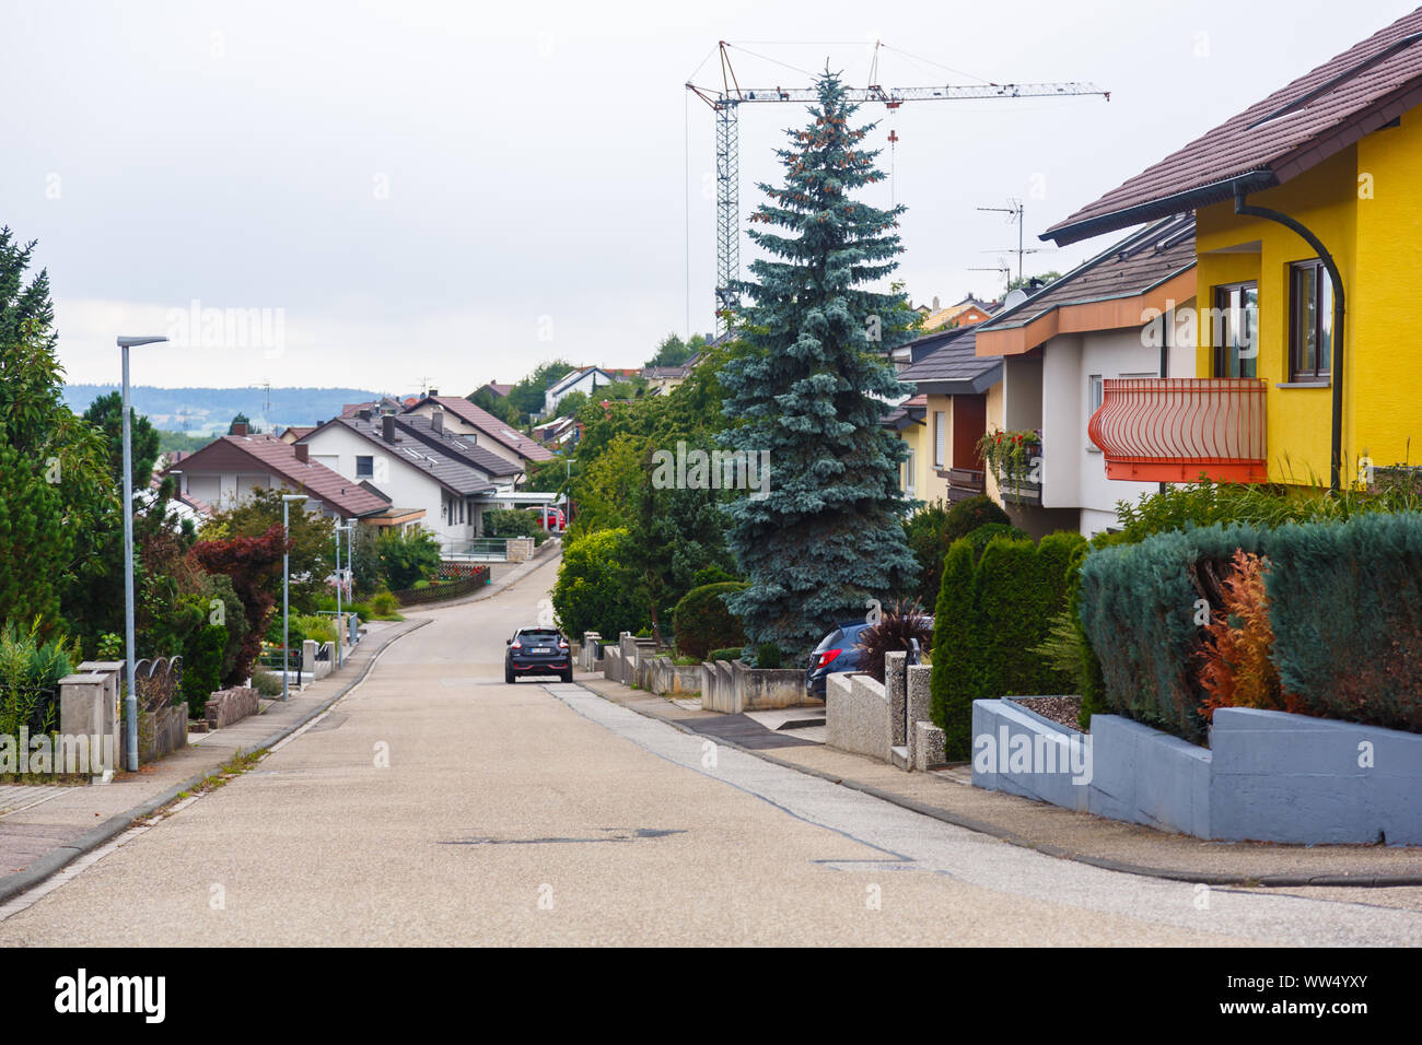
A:
<svg viewBox="0 0 1422 1045">
<path fill-rule="evenodd" d="M 576 680 L 574 680 L 576 682 Z M 577 685 L 583 685 L 577 682 Z M 587 692 L 594 697 L 600 697 L 611 704 L 619 704 L 619 707 L 627 708 L 629 711 L 636 711 L 643 718 L 650 718 L 657 722 L 665 722 L 667 725 L 675 727 L 688 736 L 698 736 L 701 739 L 708 739 L 707 734 L 700 734 L 695 729 L 684 727 L 675 718 L 663 718 L 643 708 L 633 707 L 631 704 L 621 704 L 620 701 L 613 701 L 590 685 L 583 685 Z M 1194 873 L 1182 872 L 1170 867 L 1149 867 L 1139 863 L 1129 863 L 1126 860 L 1111 860 L 1098 856 L 1084 856 L 1074 853 L 1069 849 L 1062 849 L 1061 846 L 1049 845 L 1045 842 L 1034 842 L 1030 837 L 1011 832 L 1005 827 L 1000 827 L 995 823 L 987 823 L 985 820 L 977 820 L 971 816 L 958 816 L 957 813 L 950 813 L 946 809 L 939 809 L 937 806 L 930 806 L 923 802 L 917 802 L 912 798 L 904 798 L 903 795 L 896 795 L 892 791 L 884 791 L 883 788 L 876 788 L 872 783 L 860 783 L 859 781 L 852 781 L 846 776 L 836 776 L 833 773 L 826 773 L 820 769 L 813 769 L 811 766 L 796 765 L 795 762 L 786 762 L 782 758 L 775 758 L 775 755 L 768 755 L 757 748 L 742 748 L 734 741 L 725 741 L 720 736 L 710 738 L 718 745 L 725 745 L 734 748 L 747 755 L 754 755 L 755 758 L 778 765 L 784 769 L 793 769 L 798 773 L 805 773 L 806 776 L 816 776 L 828 783 L 838 783 L 850 791 L 857 791 L 870 798 L 880 799 L 882 802 L 889 802 L 902 809 L 907 809 L 920 816 L 930 816 L 934 820 L 941 820 L 943 823 L 951 823 L 954 827 L 966 827 L 967 830 L 977 832 L 980 835 L 990 835 L 995 839 L 1007 842 L 1008 845 L 1020 846 L 1022 849 L 1032 849 L 1045 856 L 1055 856 L 1061 860 L 1075 860 L 1076 863 L 1089 864 L 1092 867 L 1101 867 L 1103 870 L 1121 872 L 1123 874 L 1139 874 L 1142 877 L 1163 879 L 1166 881 L 1189 881 L 1192 884 L 1204 886 L 1267 886 L 1273 889 L 1281 887 L 1300 887 L 1300 886 L 1348 886 L 1355 889 L 1389 889 L 1398 886 L 1422 886 L 1422 874 L 1378 874 L 1369 877 L 1351 877 L 1347 874 L 1267 874 L 1263 877 L 1250 877 L 1247 874 L 1216 874 L 1216 873 Z"/>
</svg>

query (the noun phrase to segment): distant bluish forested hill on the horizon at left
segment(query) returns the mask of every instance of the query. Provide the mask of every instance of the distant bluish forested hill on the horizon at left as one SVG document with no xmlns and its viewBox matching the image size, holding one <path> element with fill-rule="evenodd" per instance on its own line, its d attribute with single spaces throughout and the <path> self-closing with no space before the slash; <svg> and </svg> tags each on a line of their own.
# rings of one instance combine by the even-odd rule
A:
<svg viewBox="0 0 1422 1045">
<path fill-rule="evenodd" d="M 65 385 L 64 401 L 75 414 L 82 414 L 94 400 L 112 392 L 118 385 Z M 134 409 L 145 414 L 155 428 L 169 432 L 213 434 L 226 432 L 232 418 L 246 414 L 255 425 L 263 425 L 267 390 L 252 388 L 158 388 L 132 385 L 128 390 Z M 368 402 L 385 392 L 368 388 L 272 388 L 270 424 L 314 425 L 330 421 L 347 402 Z"/>
</svg>

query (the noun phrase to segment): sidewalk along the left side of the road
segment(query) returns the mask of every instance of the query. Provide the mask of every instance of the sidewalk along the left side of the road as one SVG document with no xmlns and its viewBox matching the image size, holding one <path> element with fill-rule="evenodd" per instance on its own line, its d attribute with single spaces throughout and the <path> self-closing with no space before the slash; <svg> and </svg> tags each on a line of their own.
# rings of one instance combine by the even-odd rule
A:
<svg viewBox="0 0 1422 1045">
<path fill-rule="evenodd" d="M 270 748 L 326 711 L 370 670 L 380 651 L 428 624 L 371 621 L 340 671 L 290 700 L 262 701 L 256 715 L 210 734 L 189 734 L 188 746 L 107 785 L 0 788 L 0 904 L 38 884 L 71 860 L 104 845 L 245 754 Z"/>
</svg>

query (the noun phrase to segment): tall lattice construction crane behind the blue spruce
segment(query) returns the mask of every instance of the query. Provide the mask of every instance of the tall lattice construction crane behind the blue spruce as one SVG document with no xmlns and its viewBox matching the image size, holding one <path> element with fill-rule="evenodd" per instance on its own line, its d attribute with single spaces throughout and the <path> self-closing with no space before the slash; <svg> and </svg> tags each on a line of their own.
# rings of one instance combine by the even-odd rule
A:
<svg viewBox="0 0 1422 1045">
<path fill-rule="evenodd" d="M 906 101 L 967 101 L 977 98 L 1065 98 L 1099 94 L 1111 101 L 1111 91 L 1095 84 L 944 84 L 940 87 L 882 87 L 879 84 L 879 48 L 875 44 L 869 67 L 869 85 L 850 87 L 845 94 L 852 102 L 883 102 L 893 112 Z M 759 102 L 799 102 L 819 100 L 813 87 L 741 87 L 731 64 L 734 48 L 725 40 L 718 43 L 721 54 L 721 90 L 697 87 L 687 81 L 687 90 L 711 107 L 715 114 L 715 257 L 717 257 L 717 328 L 725 331 L 731 314 L 741 303 L 735 284 L 741 274 L 741 131 L 739 108 Z M 693 74 L 694 75 L 694 74 Z"/>
</svg>

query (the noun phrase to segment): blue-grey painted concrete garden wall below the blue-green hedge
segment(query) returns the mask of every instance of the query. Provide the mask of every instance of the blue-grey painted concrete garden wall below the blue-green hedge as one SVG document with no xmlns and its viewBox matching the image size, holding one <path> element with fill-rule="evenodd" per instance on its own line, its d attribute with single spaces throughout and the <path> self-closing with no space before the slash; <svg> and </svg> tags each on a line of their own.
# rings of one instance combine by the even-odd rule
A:
<svg viewBox="0 0 1422 1045">
<path fill-rule="evenodd" d="M 973 704 L 980 788 L 1202 839 L 1422 845 L 1422 735 L 1220 708 L 1210 744 L 1119 715 L 1081 736 L 1008 698 Z"/>
</svg>

